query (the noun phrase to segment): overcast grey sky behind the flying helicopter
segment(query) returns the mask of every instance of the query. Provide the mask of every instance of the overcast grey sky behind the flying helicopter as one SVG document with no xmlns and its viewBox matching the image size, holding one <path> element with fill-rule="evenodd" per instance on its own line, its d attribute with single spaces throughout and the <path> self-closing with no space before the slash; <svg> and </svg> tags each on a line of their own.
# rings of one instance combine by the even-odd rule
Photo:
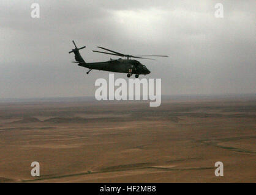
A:
<svg viewBox="0 0 256 195">
<path fill-rule="evenodd" d="M 40 18 L 31 18 L 31 4 Z M 224 18 L 215 18 L 216 3 Z M 252 1 L 10 1 L 0 2 L 0 98 L 94 96 L 108 72 L 73 61 L 72 40 L 86 62 L 109 60 L 97 46 L 132 55 L 162 79 L 162 94 L 256 93 Z M 126 74 L 115 73 L 115 78 Z"/>
</svg>

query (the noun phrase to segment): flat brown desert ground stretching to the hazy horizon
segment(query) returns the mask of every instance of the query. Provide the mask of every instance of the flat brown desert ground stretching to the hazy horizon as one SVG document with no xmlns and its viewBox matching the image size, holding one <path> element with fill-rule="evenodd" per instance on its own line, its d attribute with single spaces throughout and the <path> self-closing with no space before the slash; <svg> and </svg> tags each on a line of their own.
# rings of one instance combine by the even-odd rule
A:
<svg viewBox="0 0 256 195">
<path fill-rule="evenodd" d="M 255 119 L 256 99 L 0 103 L 0 182 L 256 182 Z"/>
</svg>

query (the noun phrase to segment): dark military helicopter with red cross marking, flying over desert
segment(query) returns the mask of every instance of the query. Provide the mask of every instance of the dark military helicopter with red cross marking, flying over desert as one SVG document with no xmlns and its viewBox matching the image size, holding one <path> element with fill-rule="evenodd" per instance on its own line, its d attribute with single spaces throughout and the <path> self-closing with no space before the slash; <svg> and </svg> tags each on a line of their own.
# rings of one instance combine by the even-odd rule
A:
<svg viewBox="0 0 256 195">
<path fill-rule="evenodd" d="M 73 44 L 75 45 L 74 41 L 73 41 Z M 138 76 L 140 74 L 146 75 L 146 74 L 149 74 L 150 71 L 148 70 L 148 68 L 146 68 L 145 65 L 142 65 L 137 60 L 132 60 L 131 58 L 148 59 L 148 58 L 145 58 L 148 56 L 168 57 L 167 55 L 128 55 L 128 54 L 121 54 L 116 51 L 111 51 L 110 49 L 97 47 L 100 49 L 104 49 L 106 51 L 110 51 L 111 53 L 102 52 L 102 51 L 94 51 L 94 50 L 93 50 L 93 52 L 99 52 L 102 54 L 110 54 L 110 55 L 118 55 L 121 57 L 127 57 L 127 59 L 118 59 L 118 60 L 110 59 L 107 62 L 87 63 L 87 62 L 85 62 L 85 60 L 83 60 L 83 58 L 81 57 L 81 55 L 79 53 L 79 50 L 84 49 L 84 48 L 86 48 L 86 46 L 77 48 L 77 46 L 75 45 L 75 49 L 72 49 L 72 51 L 70 51 L 69 54 L 72 52 L 75 54 L 75 60 L 77 60 L 77 61 L 73 62 L 73 63 L 78 63 L 78 66 L 83 66 L 85 68 L 89 68 L 89 71 L 86 72 L 87 74 L 89 74 L 89 72 L 92 69 L 98 69 L 98 70 L 102 70 L 102 71 L 110 71 L 110 72 L 115 72 L 115 73 L 127 73 L 127 77 L 130 77 L 130 76 L 132 76 L 132 74 L 135 74 L 135 77 L 138 78 Z M 149 59 L 149 60 L 155 60 L 155 59 Z"/>
</svg>

